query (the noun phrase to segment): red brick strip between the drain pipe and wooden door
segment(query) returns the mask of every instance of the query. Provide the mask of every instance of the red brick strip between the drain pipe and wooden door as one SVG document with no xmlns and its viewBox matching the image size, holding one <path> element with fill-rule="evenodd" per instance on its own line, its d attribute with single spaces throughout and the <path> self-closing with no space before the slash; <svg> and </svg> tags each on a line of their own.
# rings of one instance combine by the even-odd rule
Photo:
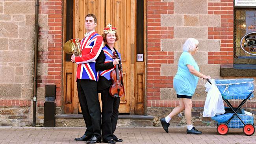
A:
<svg viewBox="0 0 256 144">
<path fill-rule="evenodd" d="M 56 85 L 56 105 L 61 105 L 62 78 L 62 0 L 48 0 L 39 3 L 39 15 L 48 15 L 48 30 L 39 26 L 39 39 L 47 39 L 48 50 L 38 52 L 38 63 L 48 64 L 48 74 L 38 76 L 37 87 Z M 37 105 L 43 106 L 38 101 Z"/>
</svg>

